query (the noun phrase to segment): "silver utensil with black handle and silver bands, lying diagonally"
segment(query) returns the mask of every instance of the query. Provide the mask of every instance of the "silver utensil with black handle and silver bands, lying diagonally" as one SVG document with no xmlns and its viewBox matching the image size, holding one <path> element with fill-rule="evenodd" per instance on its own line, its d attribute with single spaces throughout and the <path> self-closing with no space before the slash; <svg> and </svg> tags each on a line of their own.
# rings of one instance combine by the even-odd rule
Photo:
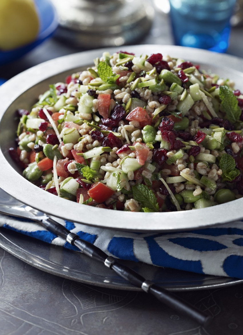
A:
<svg viewBox="0 0 243 335">
<path fill-rule="evenodd" d="M 106 267 L 113 270 L 120 277 L 128 280 L 133 285 L 140 287 L 144 292 L 152 294 L 161 303 L 171 307 L 174 310 L 177 310 L 178 312 L 183 313 L 184 315 L 189 316 L 200 325 L 205 326 L 210 322 L 210 316 L 190 305 L 185 300 L 176 296 L 172 292 L 157 286 L 152 281 L 146 280 L 139 273 L 120 263 L 116 258 L 108 256 L 105 252 L 94 246 L 92 243 L 80 239 L 77 234 L 70 232 L 66 227 L 45 213 L 19 202 L 4 192 L 2 189 L 0 189 L 0 213 L 22 217 L 38 222 L 47 230 L 63 238 L 71 245 L 76 246 L 83 254 L 103 263 Z"/>
</svg>

